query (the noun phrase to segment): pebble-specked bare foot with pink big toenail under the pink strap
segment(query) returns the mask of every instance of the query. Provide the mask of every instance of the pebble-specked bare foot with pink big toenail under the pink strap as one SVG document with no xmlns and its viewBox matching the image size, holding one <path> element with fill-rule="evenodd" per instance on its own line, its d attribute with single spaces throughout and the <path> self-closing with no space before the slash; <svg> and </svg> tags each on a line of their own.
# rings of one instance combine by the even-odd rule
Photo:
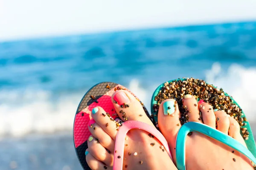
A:
<svg viewBox="0 0 256 170">
<path fill-rule="evenodd" d="M 142 121 L 152 124 L 140 102 L 129 92 L 118 90 L 112 96 L 116 113 L 122 121 Z M 123 107 L 123 104 L 129 107 Z M 118 130 L 116 121 L 101 108 L 92 111 L 89 122 L 92 134 L 87 141 L 86 161 L 92 170 L 113 169 L 113 153 Z M 111 120 L 112 119 L 112 120 Z M 125 170 L 177 170 L 162 144 L 143 130 L 130 130 L 125 137 L 123 169 Z"/>
</svg>

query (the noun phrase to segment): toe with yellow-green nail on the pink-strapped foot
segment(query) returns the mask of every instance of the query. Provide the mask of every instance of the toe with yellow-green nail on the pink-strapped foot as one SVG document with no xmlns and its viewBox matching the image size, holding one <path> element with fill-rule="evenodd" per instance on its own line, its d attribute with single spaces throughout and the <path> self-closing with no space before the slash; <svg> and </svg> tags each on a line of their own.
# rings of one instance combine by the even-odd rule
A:
<svg viewBox="0 0 256 170">
<path fill-rule="evenodd" d="M 91 135 L 87 141 L 87 144 L 88 151 L 94 158 L 104 162 L 108 167 L 113 166 L 113 154 L 109 153 L 109 151 L 100 144 L 97 138 Z"/>
</svg>

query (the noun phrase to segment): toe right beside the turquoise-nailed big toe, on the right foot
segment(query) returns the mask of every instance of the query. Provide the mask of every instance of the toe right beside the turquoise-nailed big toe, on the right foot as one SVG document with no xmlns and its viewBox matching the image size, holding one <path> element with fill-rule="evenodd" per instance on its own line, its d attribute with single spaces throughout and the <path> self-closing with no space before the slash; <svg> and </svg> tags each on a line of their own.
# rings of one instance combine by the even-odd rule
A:
<svg viewBox="0 0 256 170">
<path fill-rule="evenodd" d="M 196 101 L 195 97 L 189 94 L 185 95 L 182 99 L 182 103 L 183 108 L 186 109 L 186 112 L 188 113 L 188 121 L 196 121 L 202 123 L 197 104 L 198 102 Z"/>
</svg>

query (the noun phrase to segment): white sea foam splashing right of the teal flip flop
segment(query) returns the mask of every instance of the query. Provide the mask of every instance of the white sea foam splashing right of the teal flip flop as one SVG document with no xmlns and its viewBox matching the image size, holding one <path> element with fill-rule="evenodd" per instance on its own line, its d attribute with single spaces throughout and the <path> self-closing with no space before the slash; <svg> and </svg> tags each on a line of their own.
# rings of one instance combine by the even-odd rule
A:
<svg viewBox="0 0 256 170">
<path fill-rule="evenodd" d="M 205 81 L 223 88 L 237 101 L 248 120 L 252 123 L 256 121 L 256 68 L 233 64 L 223 73 L 221 65 L 214 63 L 212 69 L 207 70 Z"/>
</svg>

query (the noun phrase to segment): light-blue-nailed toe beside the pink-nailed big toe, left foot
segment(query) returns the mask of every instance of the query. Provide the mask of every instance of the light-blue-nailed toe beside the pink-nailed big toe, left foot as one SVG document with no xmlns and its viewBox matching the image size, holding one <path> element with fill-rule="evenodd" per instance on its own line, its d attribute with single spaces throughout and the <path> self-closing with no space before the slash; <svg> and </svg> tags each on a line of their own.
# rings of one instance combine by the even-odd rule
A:
<svg viewBox="0 0 256 170">
<path fill-rule="evenodd" d="M 115 141 L 118 123 L 102 107 L 94 107 L 92 113 L 96 123 Z"/>
</svg>

